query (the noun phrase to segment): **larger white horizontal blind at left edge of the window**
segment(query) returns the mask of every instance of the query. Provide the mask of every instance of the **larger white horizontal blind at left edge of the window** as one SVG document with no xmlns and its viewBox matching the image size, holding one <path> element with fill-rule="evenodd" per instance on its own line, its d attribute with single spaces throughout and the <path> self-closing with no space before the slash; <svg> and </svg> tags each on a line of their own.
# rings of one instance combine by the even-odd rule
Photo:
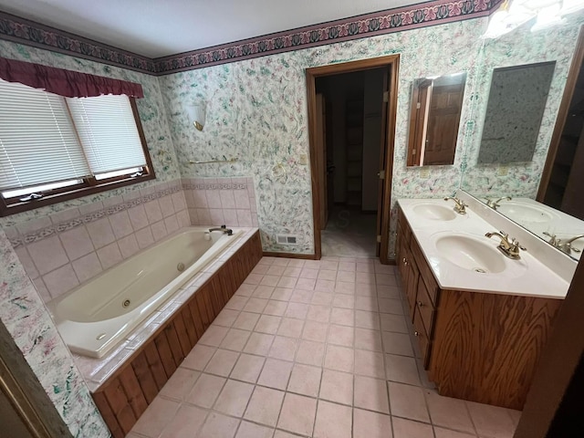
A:
<svg viewBox="0 0 584 438">
<path fill-rule="evenodd" d="M 0 79 L 0 189 L 90 173 L 65 100 Z"/>
</svg>

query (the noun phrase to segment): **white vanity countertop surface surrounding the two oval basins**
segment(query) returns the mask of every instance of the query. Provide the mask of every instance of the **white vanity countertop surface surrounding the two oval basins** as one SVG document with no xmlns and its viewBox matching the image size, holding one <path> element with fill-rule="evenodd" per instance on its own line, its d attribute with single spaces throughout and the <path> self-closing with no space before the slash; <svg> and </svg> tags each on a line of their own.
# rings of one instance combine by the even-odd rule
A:
<svg viewBox="0 0 584 438">
<path fill-rule="evenodd" d="M 478 273 L 457 266 L 446 259 L 436 248 L 436 240 L 444 235 L 463 235 L 490 245 L 497 251 L 496 246 L 499 245 L 500 239 L 496 237 L 489 239 L 485 237 L 485 233 L 499 231 L 502 228 L 501 224 L 495 226 L 495 224 L 487 222 L 480 215 L 481 207 L 476 205 L 476 208 L 473 209 L 472 202 L 468 201 L 470 206 L 466 207 L 467 214 L 455 214 L 456 217 L 449 221 L 428 219 L 417 214 L 414 207 L 423 203 L 435 203 L 452 208 L 454 207 L 453 201 L 446 203 L 443 199 L 401 199 L 398 202 L 412 228 L 414 238 L 420 245 L 423 255 L 443 289 L 528 297 L 566 297 L 569 287 L 567 278 L 559 276 L 529 251 L 531 245 L 547 244 L 541 242 L 535 235 L 532 235 L 533 240 L 531 240 L 529 236 L 521 234 L 519 230 L 516 230 L 517 225 L 511 221 L 508 221 L 508 225 L 505 224 L 503 230 L 511 236 L 518 233 L 517 238 L 521 245 L 527 247 L 527 251 L 521 251 L 520 260 L 512 260 L 499 253 L 501 260 L 505 263 L 503 272 Z M 539 243 L 534 241 L 539 241 Z"/>
</svg>

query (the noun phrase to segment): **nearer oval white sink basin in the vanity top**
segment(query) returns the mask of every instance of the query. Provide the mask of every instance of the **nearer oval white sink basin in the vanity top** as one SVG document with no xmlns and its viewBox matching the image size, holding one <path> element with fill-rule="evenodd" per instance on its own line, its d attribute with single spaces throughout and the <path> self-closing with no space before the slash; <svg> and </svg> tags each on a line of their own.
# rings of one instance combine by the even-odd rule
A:
<svg viewBox="0 0 584 438">
<path fill-rule="evenodd" d="M 474 236 L 443 235 L 435 240 L 435 245 L 438 255 L 463 269 L 482 274 L 506 269 L 505 255 Z"/>
</svg>

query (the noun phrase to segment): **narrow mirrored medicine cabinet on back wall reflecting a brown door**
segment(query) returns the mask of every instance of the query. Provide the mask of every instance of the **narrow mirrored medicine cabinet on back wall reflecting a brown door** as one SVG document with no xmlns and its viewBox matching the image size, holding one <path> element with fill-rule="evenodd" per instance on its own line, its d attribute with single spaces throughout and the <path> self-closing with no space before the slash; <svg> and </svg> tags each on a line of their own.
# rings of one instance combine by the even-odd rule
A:
<svg viewBox="0 0 584 438">
<path fill-rule="evenodd" d="M 408 166 L 454 164 L 465 83 L 466 72 L 413 81 Z"/>
</svg>

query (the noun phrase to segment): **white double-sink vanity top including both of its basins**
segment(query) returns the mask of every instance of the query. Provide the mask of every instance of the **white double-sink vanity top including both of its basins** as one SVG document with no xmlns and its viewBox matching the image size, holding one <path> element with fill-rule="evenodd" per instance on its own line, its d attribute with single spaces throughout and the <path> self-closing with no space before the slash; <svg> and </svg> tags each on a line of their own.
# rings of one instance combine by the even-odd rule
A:
<svg viewBox="0 0 584 438">
<path fill-rule="evenodd" d="M 441 287 L 544 297 L 566 295 L 567 282 L 529 254 L 528 242 L 522 242 L 527 248 L 519 251 L 518 258 L 507 257 L 497 247 L 501 244 L 498 236 L 485 236 L 499 234 L 499 230 L 472 208 L 466 207 L 466 214 L 459 214 L 454 211 L 454 203 L 443 199 L 399 203 Z M 508 208 L 516 208 L 531 220 L 542 217 L 542 212 L 528 207 Z"/>
</svg>

